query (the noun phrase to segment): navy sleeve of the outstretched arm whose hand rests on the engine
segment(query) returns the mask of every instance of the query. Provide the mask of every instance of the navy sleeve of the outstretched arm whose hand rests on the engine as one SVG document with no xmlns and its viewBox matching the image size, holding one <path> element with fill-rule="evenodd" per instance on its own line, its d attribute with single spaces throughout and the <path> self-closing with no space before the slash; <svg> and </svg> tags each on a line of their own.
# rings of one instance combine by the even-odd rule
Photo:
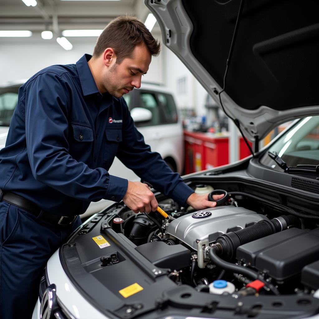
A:
<svg viewBox="0 0 319 319">
<path fill-rule="evenodd" d="M 142 180 L 151 183 L 154 189 L 172 197 L 183 206 L 194 190 L 183 182 L 178 173 L 168 167 L 159 153 L 152 152 L 151 147 L 145 144 L 143 135 L 134 125 L 125 100 L 120 101 L 123 109 L 123 140 L 116 156 Z"/>
</svg>

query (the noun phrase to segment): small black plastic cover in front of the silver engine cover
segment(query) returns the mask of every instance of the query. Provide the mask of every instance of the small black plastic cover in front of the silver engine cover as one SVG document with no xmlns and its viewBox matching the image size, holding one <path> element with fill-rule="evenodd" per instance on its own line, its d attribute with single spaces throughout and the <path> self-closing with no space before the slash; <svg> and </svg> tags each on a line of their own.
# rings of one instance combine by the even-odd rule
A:
<svg viewBox="0 0 319 319">
<path fill-rule="evenodd" d="M 167 245 L 163 241 L 153 241 L 135 248 L 153 265 L 178 270 L 190 265 L 190 251 L 182 245 Z"/>
</svg>

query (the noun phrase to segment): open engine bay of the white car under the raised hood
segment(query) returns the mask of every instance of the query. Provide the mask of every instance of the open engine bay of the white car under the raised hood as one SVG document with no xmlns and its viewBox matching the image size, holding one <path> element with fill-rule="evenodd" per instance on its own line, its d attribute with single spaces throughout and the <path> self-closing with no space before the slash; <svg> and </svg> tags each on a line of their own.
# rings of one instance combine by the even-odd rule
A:
<svg viewBox="0 0 319 319">
<path fill-rule="evenodd" d="M 216 186 L 220 185 L 193 182 L 190 186 L 198 193 L 207 190 L 218 193 Z M 60 256 L 64 249 L 65 269 L 70 271 L 65 254 L 74 248 L 70 241 L 75 241 L 78 255 L 72 258 L 78 256 L 85 273 L 100 283 L 105 281 L 104 286 L 113 293 L 118 292 L 117 285 L 125 286 L 115 280 L 118 276 L 123 282 L 146 280 L 134 273 L 129 259 L 153 276 L 150 287 L 158 285 L 161 278 L 164 286 L 155 290 L 160 295 L 178 289 L 178 298 L 182 298 L 179 306 L 173 301 L 173 294 L 161 302 L 150 301 L 153 309 L 168 310 L 174 305 L 185 311 L 191 297 L 188 300 L 182 296 L 196 293 L 201 313 L 214 313 L 226 300 L 232 315 L 237 312 L 269 318 L 267 312 L 278 309 L 282 311 L 280 316 L 287 318 L 293 318 L 291 309 L 295 314 L 300 309 L 307 315 L 318 313 L 319 216 L 311 209 L 301 211 L 300 206 L 304 204 L 300 201 L 289 206 L 286 205 L 289 200 L 278 203 L 269 195 L 271 193 L 265 196 L 261 189 L 234 187 L 232 190 L 231 186 L 226 189 L 221 191 L 227 196 L 223 204 L 202 211 L 180 207 L 174 200 L 155 194 L 167 218 L 156 211 L 135 214 L 122 202 L 111 205 L 89 219 L 62 248 Z M 87 242 L 97 234 L 104 234 L 111 247 L 88 252 Z M 112 247 L 111 241 L 117 249 L 115 245 Z M 130 272 L 134 273 L 134 279 Z M 110 280 L 114 291 L 108 286 Z M 75 281 L 80 286 L 79 278 Z M 134 299 L 135 295 L 130 298 Z M 150 293 L 147 298 L 151 298 Z M 215 310 L 207 309 L 207 300 L 212 298 L 219 304 Z M 267 301 L 270 308 L 265 300 L 272 300 Z M 249 306 L 239 309 L 238 304 Z M 121 318 L 130 317 L 125 307 L 131 306 L 126 303 L 114 313 Z M 149 311 L 145 305 L 143 311 L 132 309 L 135 315 Z M 119 315 L 121 311 L 123 316 Z M 135 316 L 133 313 L 131 317 Z"/>
</svg>

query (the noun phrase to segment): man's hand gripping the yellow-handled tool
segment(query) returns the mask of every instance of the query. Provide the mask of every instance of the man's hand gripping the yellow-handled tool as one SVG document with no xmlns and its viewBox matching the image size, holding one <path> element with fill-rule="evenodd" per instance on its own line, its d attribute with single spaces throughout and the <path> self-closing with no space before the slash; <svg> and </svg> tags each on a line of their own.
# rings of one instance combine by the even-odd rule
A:
<svg viewBox="0 0 319 319">
<path fill-rule="evenodd" d="M 146 184 L 141 182 L 130 182 L 127 185 L 127 191 L 123 197 L 123 202 L 136 214 L 149 213 L 156 211 L 158 206 L 154 194 Z"/>
</svg>

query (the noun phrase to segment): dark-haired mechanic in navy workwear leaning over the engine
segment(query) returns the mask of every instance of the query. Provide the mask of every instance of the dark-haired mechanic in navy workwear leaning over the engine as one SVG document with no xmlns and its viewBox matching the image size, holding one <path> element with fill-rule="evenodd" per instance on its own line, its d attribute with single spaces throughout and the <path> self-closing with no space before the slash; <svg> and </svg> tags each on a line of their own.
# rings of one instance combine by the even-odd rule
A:
<svg viewBox="0 0 319 319">
<path fill-rule="evenodd" d="M 215 206 L 151 152 L 122 98 L 140 87 L 159 50 L 140 20 L 118 17 L 93 56 L 43 69 L 19 89 L 0 151 L 0 318 L 32 316 L 48 258 L 91 201 L 123 200 L 135 213 L 156 210 L 146 184 L 108 174 L 115 156 L 179 204 Z"/>
</svg>

